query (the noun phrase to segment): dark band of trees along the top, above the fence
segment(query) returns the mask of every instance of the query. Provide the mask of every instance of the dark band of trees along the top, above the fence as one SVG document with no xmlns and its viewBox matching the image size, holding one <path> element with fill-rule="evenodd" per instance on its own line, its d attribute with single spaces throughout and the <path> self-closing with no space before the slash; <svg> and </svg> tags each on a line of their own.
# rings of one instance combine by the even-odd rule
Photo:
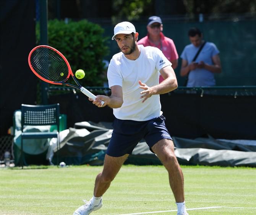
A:
<svg viewBox="0 0 256 215">
<path fill-rule="evenodd" d="M 256 13 L 256 0 L 48 0 L 49 18 L 139 20 L 152 15 Z M 103 20 L 102 20 L 103 21 Z"/>
</svg>

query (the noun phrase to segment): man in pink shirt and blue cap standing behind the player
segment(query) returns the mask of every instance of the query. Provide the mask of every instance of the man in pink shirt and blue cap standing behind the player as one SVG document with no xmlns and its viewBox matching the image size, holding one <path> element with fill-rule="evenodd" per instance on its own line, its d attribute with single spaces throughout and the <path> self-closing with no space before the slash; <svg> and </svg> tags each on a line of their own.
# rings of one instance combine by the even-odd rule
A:
<svg viewBox="0 0 256 215">
<path fill-rule="evenodd" d="M 165 37 L 162 33 L 163 24 L 162 20 L 158 16 L 151 16 L 147 23 L 147 36 L 141 38 L 138 41 L 138 45 L 153 46 L 159 48 L 167 59 L 172 63 L 172 68 L 175 69 L 178 66 L 178 53 L 173 40 Z M 159 77 L 159 83 L 164 78 Z"/>
</svg>

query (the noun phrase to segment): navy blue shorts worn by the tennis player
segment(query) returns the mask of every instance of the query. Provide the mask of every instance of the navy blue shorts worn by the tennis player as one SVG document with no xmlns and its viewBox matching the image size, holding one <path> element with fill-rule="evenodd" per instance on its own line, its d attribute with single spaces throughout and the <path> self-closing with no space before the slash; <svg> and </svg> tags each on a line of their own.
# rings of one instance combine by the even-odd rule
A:
<svg viewBox="0 0 256 215">
<path fill-rule="evenodd" d="M 165 117 L 159 116 L 147 121 L 122 120 L 115 118 L 113 133 L 107 148 L 107 155 L 120 157 L 131 154 L 141 139 L 151 147 L 162 139 L 171 139 L 166 126 Z"/>
</svg>

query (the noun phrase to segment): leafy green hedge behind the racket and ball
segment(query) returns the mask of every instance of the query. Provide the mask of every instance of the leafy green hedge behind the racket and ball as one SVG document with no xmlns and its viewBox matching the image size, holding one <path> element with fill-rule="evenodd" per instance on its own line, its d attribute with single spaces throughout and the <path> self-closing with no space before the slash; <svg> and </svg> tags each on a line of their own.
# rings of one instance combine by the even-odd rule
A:
<svg viewBox="0 0 256 215">
<path fill-rule="evenodd" d="M 109 54 L 107 40 L 110 38 L 103 37 L 103 33 L 100 25 L 87 20 L 69 21 L 68 24 L 57 19 L 48 21 L 49 46 L 66 57 L 74 74 L 80 68 L 84 70 L 86 76 L 79 80 L 83 86 L 103 86 L 106 81 L 102 61 Z M 39 24 L 36 26 L 36 37 L 39 44 Z"/>
</svg>

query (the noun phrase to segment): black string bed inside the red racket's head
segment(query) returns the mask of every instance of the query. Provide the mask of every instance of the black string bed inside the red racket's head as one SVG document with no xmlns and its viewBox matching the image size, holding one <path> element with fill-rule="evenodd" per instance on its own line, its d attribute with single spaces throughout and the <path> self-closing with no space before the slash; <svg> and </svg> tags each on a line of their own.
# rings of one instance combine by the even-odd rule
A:
<svg viewBox="0 0 256 215">
<path fill-rule="evenodd" d="M 42 78 L 62 82 L 68 78 L 68 66 L 64 59 L 52 49 L 41 47 L 36 49 L 30 57 L 35 72 Z"/>
</svg>

